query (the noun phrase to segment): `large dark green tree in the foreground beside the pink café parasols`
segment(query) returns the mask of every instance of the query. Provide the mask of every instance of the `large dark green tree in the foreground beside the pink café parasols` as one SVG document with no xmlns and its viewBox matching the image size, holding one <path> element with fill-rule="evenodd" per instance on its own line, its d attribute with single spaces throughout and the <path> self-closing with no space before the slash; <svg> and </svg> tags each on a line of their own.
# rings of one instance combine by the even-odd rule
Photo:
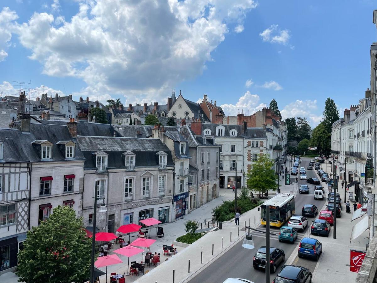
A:
<svg viewBox="0 0 377 283">
<path fill-rule="evenodd" d="M 19 282 L 82 283 L 89 278 L 91 238 L 82 218 L 69 206 L 58 206 L 39 226 L 28 232 L 18 252 Z"/>
</svg>

